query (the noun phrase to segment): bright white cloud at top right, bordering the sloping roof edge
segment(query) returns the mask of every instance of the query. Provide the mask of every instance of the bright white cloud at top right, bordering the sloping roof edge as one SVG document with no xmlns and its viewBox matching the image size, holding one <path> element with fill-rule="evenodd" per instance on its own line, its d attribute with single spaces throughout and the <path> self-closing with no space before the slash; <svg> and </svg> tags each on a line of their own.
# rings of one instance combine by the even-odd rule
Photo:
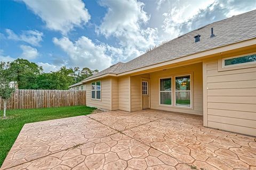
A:
<svg viewBox="0 0 256 170">
<path fill-rule="evenodd" d="M 255 7 L 256 1 L 177 1 L 168 12 L 163 13 L 164 21 L 159 32 L 162 37 L 173 39 L 206 24 L 254 10 Z"/>
</svg>

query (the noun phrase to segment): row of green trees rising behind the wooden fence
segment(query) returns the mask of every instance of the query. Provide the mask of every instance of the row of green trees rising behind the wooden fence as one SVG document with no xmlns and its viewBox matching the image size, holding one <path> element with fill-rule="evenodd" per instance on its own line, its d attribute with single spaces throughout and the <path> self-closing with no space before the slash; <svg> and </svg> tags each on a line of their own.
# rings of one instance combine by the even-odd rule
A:
<svg viewBox="0 0 256 170">
<path fill-rule="evenodd" d="M 16 81 L 19 89 L 67 90 L 71 84 L 99 72 L 87 67 L 80 69 L 62 66 L 58 71 L 45 73 L 42 66 L 22 58 L 13 62 L 1 62 L 0 66 L 13 75 L 11 81 Z"/>
</svg>

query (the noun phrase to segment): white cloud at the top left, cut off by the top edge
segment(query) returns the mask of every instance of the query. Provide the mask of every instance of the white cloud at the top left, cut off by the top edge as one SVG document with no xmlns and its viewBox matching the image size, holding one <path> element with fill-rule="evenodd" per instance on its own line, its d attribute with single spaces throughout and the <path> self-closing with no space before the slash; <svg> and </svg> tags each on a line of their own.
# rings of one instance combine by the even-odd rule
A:
<svg viewBox="0 0 256 170">
<path fill-rule="evenodd" d="M 91 17 L 81 0 L 23 2 L 46 23 L 47 28 L 65 35 L 74 27 L 85 24 Z"/>
</svg>

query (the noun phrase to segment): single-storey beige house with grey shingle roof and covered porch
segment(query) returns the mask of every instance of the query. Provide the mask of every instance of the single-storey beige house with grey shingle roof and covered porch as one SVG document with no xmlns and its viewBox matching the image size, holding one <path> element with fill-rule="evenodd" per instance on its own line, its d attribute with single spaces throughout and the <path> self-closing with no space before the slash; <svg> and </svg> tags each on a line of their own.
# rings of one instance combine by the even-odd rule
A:
<svg viewBox="0 0 256 170">
<path fill-rule="evenodd" d="M 256 136 L 256 10 L 179 36 L 86 83 L 86 105 L 203 115 L 203 125 Z"/>
</svg>

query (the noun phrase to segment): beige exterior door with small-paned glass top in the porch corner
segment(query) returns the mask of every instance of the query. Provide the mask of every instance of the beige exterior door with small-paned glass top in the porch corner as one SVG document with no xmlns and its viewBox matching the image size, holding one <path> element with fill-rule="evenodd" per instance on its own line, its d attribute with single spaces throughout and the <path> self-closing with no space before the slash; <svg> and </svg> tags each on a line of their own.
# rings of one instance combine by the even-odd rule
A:
<svg viewBox="0 0 256 170">
<path fill-rule="evenodd" d="M 149 108 L 149 80 L 141 81 L 142 109 Z"/>
</svg>

